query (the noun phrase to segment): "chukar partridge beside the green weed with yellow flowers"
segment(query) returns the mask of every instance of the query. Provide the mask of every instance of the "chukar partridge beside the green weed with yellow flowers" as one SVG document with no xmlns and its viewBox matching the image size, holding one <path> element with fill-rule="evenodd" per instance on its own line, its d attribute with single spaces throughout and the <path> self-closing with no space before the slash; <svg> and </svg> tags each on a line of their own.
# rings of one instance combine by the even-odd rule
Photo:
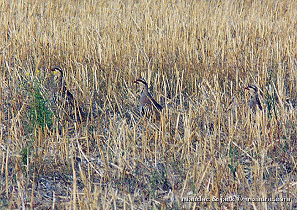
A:
<svg viewBox="0 0 297 210">
<path fill-rule="evenodd" d="M 56 86 L 53 88 L 53 102 L 54 104 L 59 104 L 59 106 L 63 106 L 67 112 L 72 113 L 77 108 L 76 121 L 80 123 L 83 120 L 86 120 L 86 114 L 82 111 L 80 106 L 77 104 L 77 101 L 74 99 L 73 95 L 69 90 L 66 89 L 65 81 L 63 78 L 63 70 L 60 66 L 55 66 L 51 69 L 54 73 L 54 81 L 56 82 Z M 73 116 L 75 114 L 69 114 L 69 116 Z M 82 117 L 82 120 L 80 120 Z"/>
</svg>

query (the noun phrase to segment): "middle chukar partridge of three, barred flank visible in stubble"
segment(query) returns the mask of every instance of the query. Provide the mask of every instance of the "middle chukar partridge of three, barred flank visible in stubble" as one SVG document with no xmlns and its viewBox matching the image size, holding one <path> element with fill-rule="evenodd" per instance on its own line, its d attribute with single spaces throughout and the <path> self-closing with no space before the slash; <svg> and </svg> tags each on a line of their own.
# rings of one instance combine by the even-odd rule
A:
<svg viewBox="0 0 297 210">
<path fill-rule="evenodd" d="M 160 112 L 163 107 L 151 97 L 149 87 L 146 81 L 142 78 L 137 79 L 133 83 L 139 84 L 141 89 L 139 112 L 141 115 L 154 120 L 160 120 Z"/>
</svg>

